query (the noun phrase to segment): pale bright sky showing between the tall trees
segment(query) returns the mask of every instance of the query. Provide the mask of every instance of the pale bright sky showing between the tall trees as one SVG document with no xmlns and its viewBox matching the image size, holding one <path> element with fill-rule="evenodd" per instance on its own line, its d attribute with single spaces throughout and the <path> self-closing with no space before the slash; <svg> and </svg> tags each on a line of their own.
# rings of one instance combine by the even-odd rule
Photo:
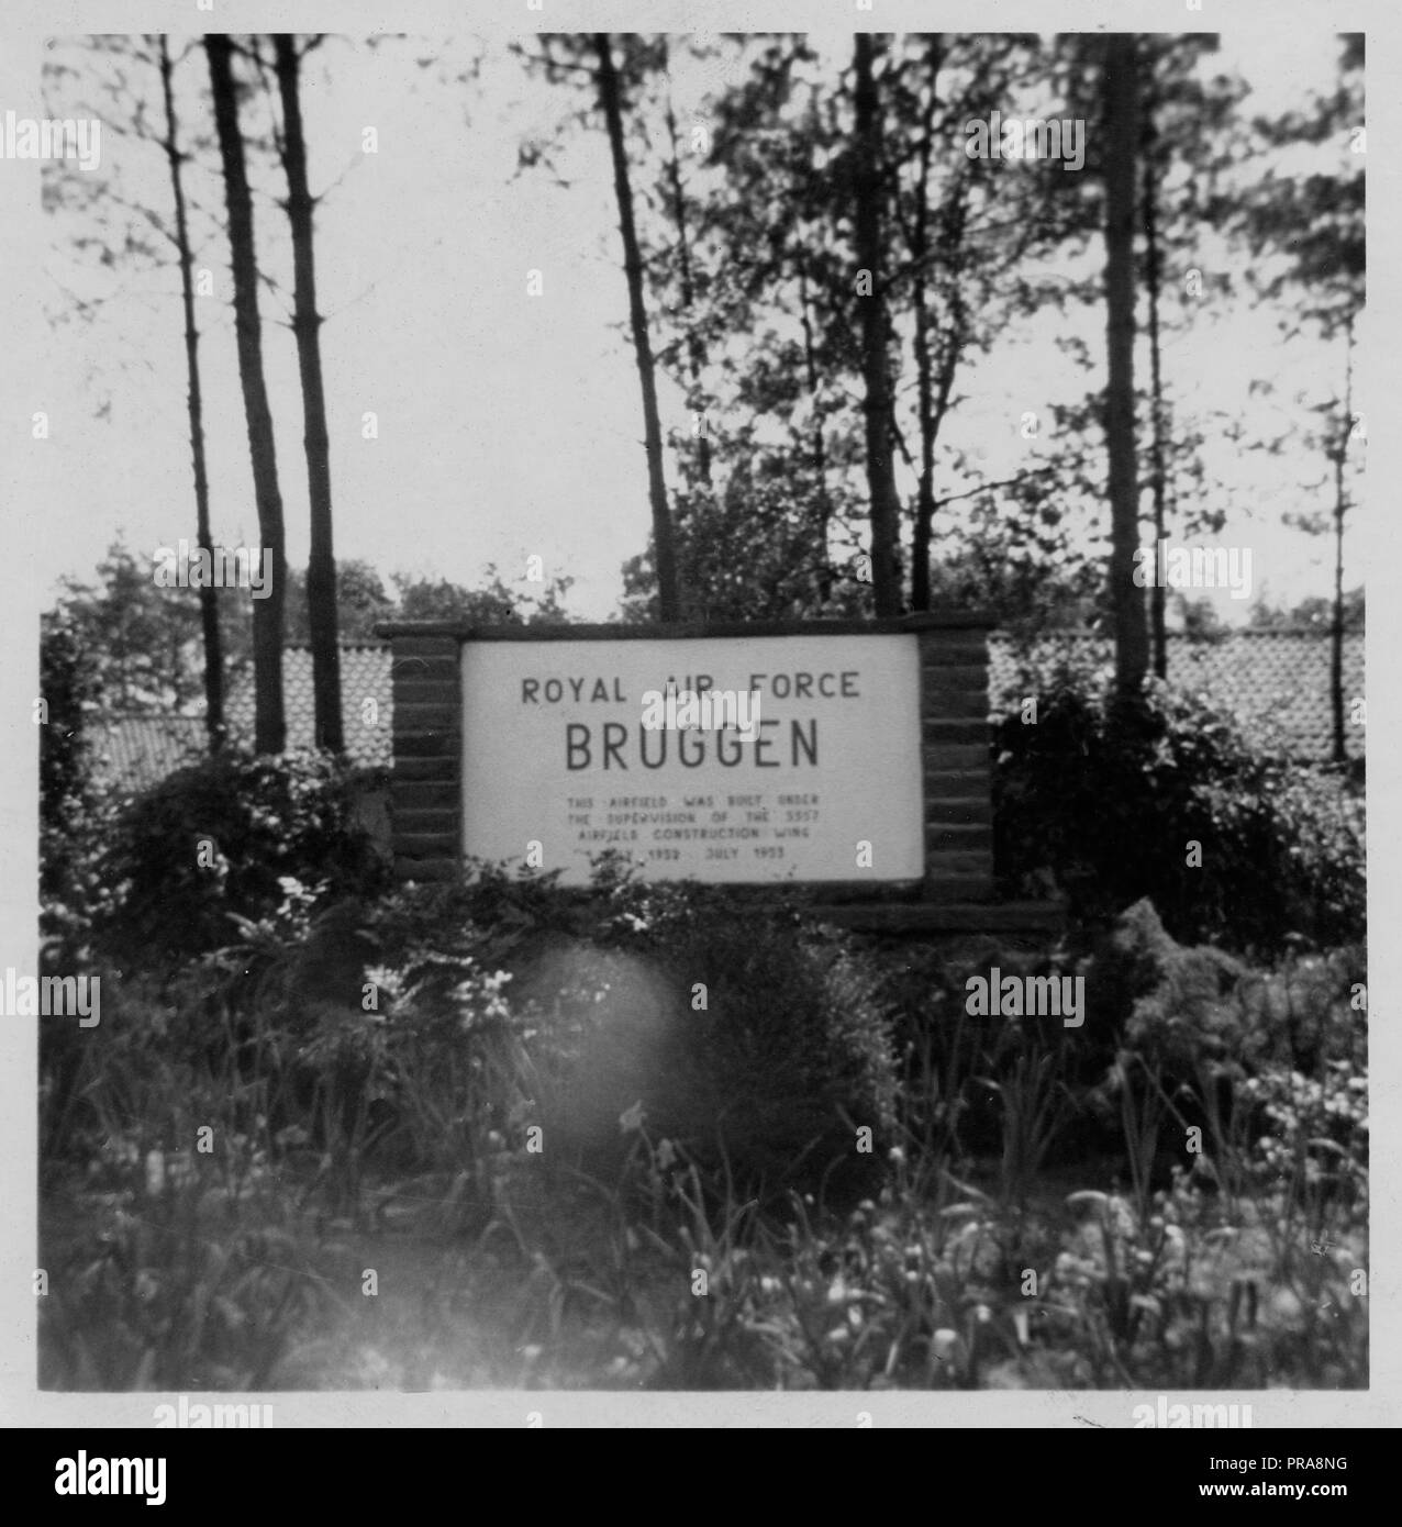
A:
<svg viewBox="0 0 1402 1527">
<path fill-rule="evenodd" d="M 837 38 L 834 38 L 834 43 Z M 176 40 L 176 49 L 185 46 Z M 849 40 L 842 40 L 843 56 Z M 1297 18 L 1249 46 L 1223 38 L 1214 67 L 1252 86 L 1248 110 L 1278 113 L 1329 90 L 1338 46 Z M 76 44 L 50 58 L 95 69 Z M 420 64 L 418 61 L 426 61 Z M 469 75 L 480 63 L 475 78 Z M 706 90 L 724 82 L 674 50 L 678 115 L 689 121 Z M 93 76 L 95 78 L 95 76 Z M 206 128 L 202 50 L 179 70 L 186 131 Z M 70 87 L 50 93 L 72 102 Z M 89 98 L 90 86 L 84 87 Z M 626 289 L 619 257 L 608 147 L 597 121 L 567 134 L 559 159 L 568 189 L 541 171 L 516 174 L 522 136 L 553 128 L 580 104 L 577 92 L 527 78 L 499 40 L 391 40 L 370 49 L 328 38 L 307 61 L 304 111 L 318 212 L 318 281 L 331 434 L 336 553 L 394 570 L 475 583 L 487 562 L 510 582 L 527 554 L 547 574 L 568 573 L 574 614 L 603 618 L 622 591 L 620 563 L 646 545 L 649 510 L 640 444 L 637 374 L 623 328 Z M 151 105 L 157 107 L 154 79 Z M 159 115 L 159 113 L 157 113 Z M 247 122 L 255 118 L 247 115 Z M 373 127 L 379 151 L 362 153 Z M 102 174 L 125 197 L 165 215 L 170 186 L 150 144 L 104 134 Z M 221 211 L 206 156 L 191 174 L 200 208 Z M 258 173 L 258 240 L 283 295 L 264 292 L 264 357 L 278 432 L 287 551 L 307 556 L 305 466 L 296 353 L 286 322 L 290 255 L 286 218 L 269 195 L 278 177 Z M 72 235 L 81 220 L 49 218 L 47 301 L 101 298 L 98 318 L 63 322 L 52 334 L 52 395 L 66 400 L 44 476 L 49 490 L 40 577 L 87 576 L 118 528 L 139 553 L 192 538 L 194 504 L 185 414 L 185 356 L 173 266 L 131 263 L 93 270 Z M 228 312 L 228 244 L 200 217 L 197 263 L 214 273 L 200 304 L 203 383 L 215 539 L 257 541 L 243 402 Z M 1100 258 L 1100 247 L 1093 249 Z M 527 272 L 544 295 L 527 295 Z M 1052 345 L 1046 315 L 1017 342 L 996 348 L 964 379 L 968 402 L 951 417 L 953 441 L 982 452 L 991 476 L 1028 464 L 1023 411 L 1074 402 L 1087 377 Z M 1083 333 L 1103 351 L 1103 315 Z M 1281 348 L 1275 315 L 1232 310 L 1174 339 L 1165 356 L 1170 388 L 1190 409 L 1265 409 L 1248 397 L 1254 379 L 1327 385 L 1341 357 L 1310 341 Z M 686 425 L 681 399 L 663 386 L 663 428 Z M 362 438 L 374 412 L 379 438 Z M 1255 414 L 1255 423 L 1263 418 Z M 1261 425 L 1261 428 L 1266 428 Z M 1237 493 L 1223 544 L 1254 548 L 1257 592 L 1294 602 L 1330 591 L 1329 544 L 1283 530 L 1283 508 L 1306 508 L 1295 487 L 1313 463 L 1242 460 L 1219 444 L 1213 464 Z M 1246 516 L 1246 505 L 1258 513 Z M 1349 570 L 1349 582 L 1361 570 Z M 1228 618 L 1245 605 L 1222 602 Z"/>
</svg>

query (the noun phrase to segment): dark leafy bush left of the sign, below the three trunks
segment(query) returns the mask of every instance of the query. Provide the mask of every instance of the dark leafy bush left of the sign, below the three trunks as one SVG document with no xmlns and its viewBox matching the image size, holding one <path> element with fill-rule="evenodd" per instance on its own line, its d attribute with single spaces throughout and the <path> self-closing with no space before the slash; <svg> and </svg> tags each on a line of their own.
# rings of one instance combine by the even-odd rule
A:
<svg viewBox="0 0 1402 1527">
<path fill-rule="evenodd" d="M 354 774 L 327 754 L 200 759 L 124 803 L 101 855 L 115 904 L 95 941 L 115 962 L 231 941 L 232 918 L 258 919 L 284 880 L 374 892 L 386 869 L 354 825 Z"/>
</svg>

